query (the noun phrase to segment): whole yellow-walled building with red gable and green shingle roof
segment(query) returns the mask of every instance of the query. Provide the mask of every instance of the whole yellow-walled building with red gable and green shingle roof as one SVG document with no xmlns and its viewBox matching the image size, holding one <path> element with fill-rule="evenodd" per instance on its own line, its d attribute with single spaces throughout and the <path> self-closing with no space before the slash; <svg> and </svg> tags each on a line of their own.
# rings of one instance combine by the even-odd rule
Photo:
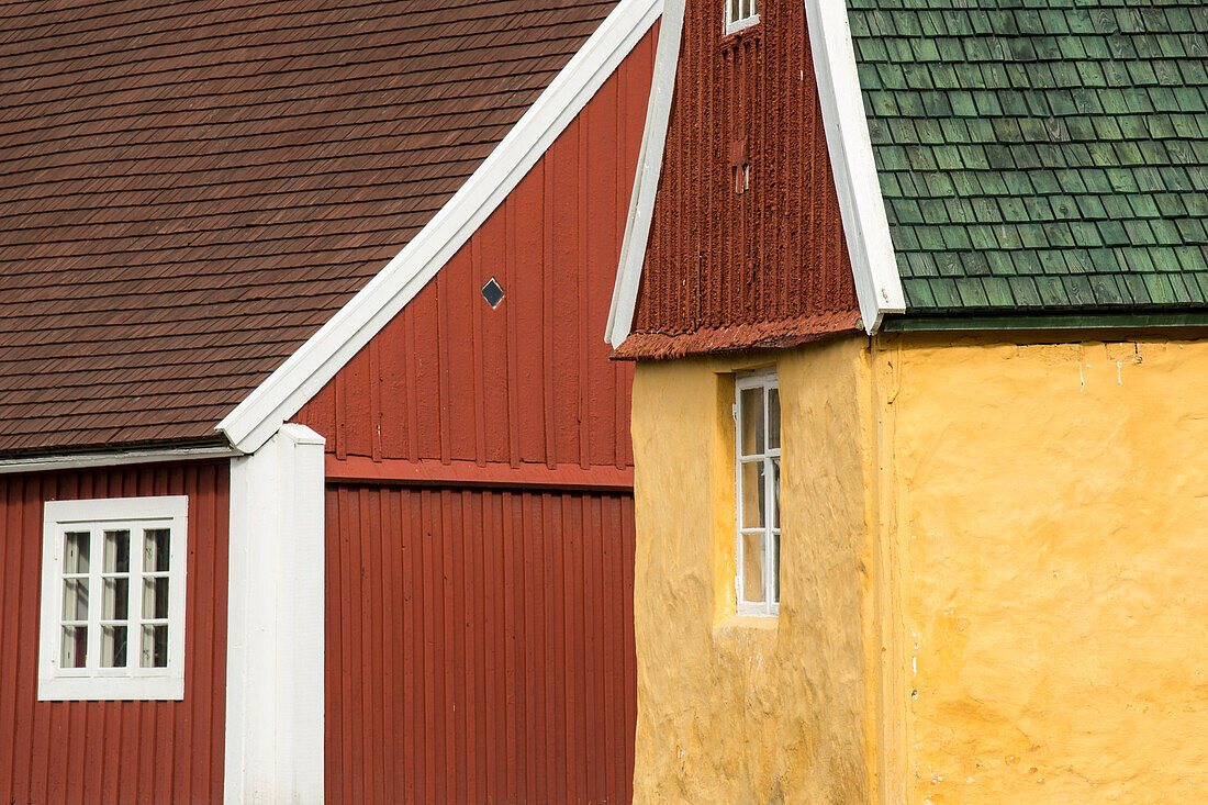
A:
<svg viewBox="0 0 1208 805">
<path fill-rule="evenodd" d="M 1208 803 L 1208 6 L 725 5 L 608 330 L 635 801 Z"/>
</svg>

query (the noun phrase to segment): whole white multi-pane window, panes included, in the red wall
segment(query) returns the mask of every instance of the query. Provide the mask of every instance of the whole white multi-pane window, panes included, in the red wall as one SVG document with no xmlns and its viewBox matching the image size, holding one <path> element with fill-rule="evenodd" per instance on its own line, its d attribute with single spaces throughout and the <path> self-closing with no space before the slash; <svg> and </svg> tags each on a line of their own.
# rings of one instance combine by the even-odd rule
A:
<svg viewBox="0 0 1208 805">
<path fill-rule="evenodd" d="M 188 498 L 52 500 L 40 700 L 184 699 Z"/>
</svg>

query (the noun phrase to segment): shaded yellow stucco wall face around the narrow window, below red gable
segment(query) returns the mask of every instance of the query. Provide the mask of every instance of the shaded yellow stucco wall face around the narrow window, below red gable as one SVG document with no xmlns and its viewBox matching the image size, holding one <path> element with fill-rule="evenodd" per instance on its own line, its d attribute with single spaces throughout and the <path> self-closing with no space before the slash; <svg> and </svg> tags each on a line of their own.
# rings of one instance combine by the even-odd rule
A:
<svg viewBox="0 0 1208 805">
<path fill-rule="evenodd" d="M 635 801 L 867 800 L 866 343 L 639 364 Z M 732 372 L 772 363 L 780 616 L 736 618 Z"/>
</svg>

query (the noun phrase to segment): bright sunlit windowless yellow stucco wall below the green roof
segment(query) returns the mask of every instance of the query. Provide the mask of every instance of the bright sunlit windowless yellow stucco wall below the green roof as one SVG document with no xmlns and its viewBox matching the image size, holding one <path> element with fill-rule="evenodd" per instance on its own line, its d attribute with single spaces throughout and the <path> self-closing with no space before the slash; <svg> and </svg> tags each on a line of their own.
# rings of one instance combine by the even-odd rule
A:
<svg viewBox="0 0 1208 805">
<path fill-rule="evenodd" d="M 1208 797 L 1208 343 L 878 355 L 911 803 Z"/>
</svg>

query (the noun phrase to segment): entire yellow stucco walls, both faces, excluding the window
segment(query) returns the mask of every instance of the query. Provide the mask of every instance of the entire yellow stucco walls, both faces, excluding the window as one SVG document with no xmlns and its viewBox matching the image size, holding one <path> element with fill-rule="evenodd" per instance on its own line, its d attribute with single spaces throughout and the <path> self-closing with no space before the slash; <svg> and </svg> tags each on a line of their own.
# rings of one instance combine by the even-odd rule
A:
<svg viewBox="0 0 1208 805">
<path fill-rule="evenodd" d="M 776 363 L 782 609 L 734 619 Z M 1208 803 L 1208 343 L 640 364 L 638 803 Z"/>
</svg>

